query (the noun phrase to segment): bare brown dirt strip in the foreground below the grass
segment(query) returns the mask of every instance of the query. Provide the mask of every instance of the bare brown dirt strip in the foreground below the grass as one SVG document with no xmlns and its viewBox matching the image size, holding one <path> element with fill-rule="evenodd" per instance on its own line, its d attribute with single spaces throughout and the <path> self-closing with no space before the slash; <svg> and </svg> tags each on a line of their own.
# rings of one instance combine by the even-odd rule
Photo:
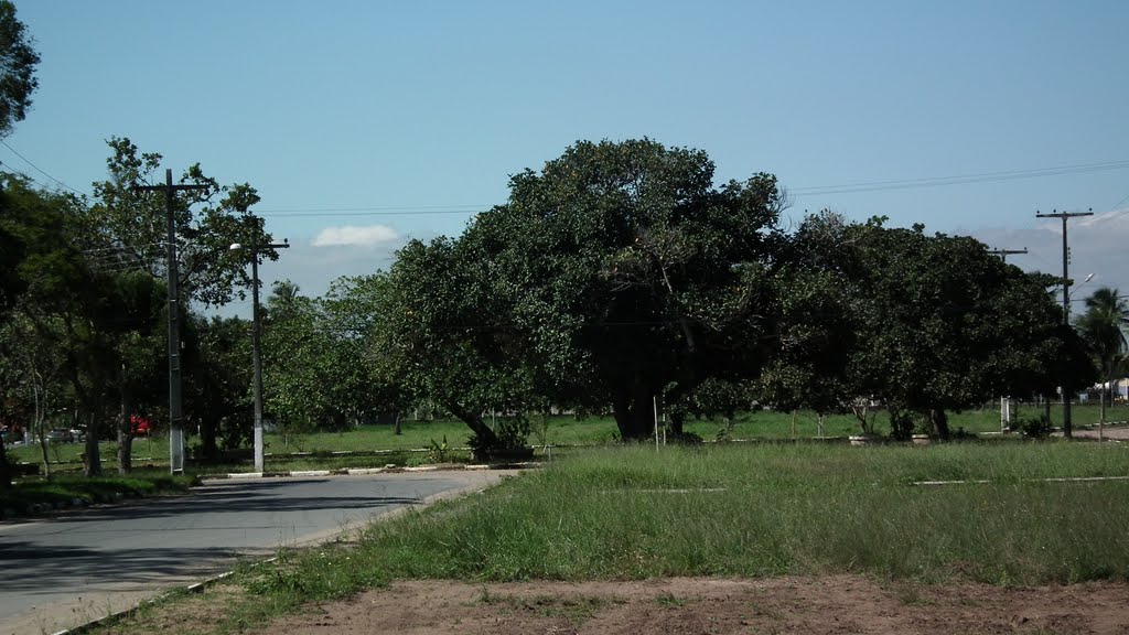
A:
<svg viewBox="0 0 1129 635">
<path fill-rule="evenodd" d="M 262 633 L 1129 635 L 1129 584 L 918 586 L 861 576 L 467 584 L 397 582 Z"/>
</svg>

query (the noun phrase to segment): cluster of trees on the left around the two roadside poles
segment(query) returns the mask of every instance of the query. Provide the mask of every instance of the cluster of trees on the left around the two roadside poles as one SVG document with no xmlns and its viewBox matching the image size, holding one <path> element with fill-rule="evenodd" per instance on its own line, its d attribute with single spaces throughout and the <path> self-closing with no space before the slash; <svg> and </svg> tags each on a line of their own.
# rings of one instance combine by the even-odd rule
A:
<svg viewBox="0 0 1129 635">
<path fill-rule="evenodd" d="M 87 472 L 100 471 L 97 442 L 115 421 L 119 463 L 130 469 L 130 418 L 167 418 L 167 252 L 165 201 L 134 185 L 156 181 L 160 155 L 129 139 L 108 141 L 108 177 L 93 200 L 44 191 L 5 174 L 0 192 L 0 397 L 9 430 L 36 428 L 46 458 L 49 425 L 87 430 Z M 215 453 L 225 417 L 246 410 L 250 348 L 239 321 L 204 318 L 191 306 L 219 306 L 250 288 L 245 255 L 234 242 L 270 242 L 248 208 L 246 184 L 221 186 L 199 165 L 182 182 L 203 185 L 182 195 L 178 227 L 182 367 L 187 401 Z M 262 251 L 263 258 L 277 254 Z M 228 376 L 235 373 L 236 377 Z M 246 380 L 250 381 L 250 380 Z M 61 412 L 67 412 L 62 420 Z M 113 414 L 113 415 L 111 415 Z M 110 428 L 113 429 L 113 428 Z"/>
</svg>

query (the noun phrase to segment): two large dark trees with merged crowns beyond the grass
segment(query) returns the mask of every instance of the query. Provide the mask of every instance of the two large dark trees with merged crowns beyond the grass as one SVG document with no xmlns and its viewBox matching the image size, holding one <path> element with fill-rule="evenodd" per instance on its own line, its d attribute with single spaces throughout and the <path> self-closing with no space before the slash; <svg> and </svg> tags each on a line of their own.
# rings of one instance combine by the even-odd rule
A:
<svg viewBox="0 0 1129 635">
<path fill-rule="evenodd" d="M 1045 289 L 964 236 L 808 217 L 769 174 L 714 184 L 699 150 L 580 141 L 457 238 L 415 241 L 374 305 L 378 358 L 489 438 L 482 412 L 610 410 L 640 438 L 663 401 L 946 411 L 1049 394 L 1088 366 Z"/>
</svg>

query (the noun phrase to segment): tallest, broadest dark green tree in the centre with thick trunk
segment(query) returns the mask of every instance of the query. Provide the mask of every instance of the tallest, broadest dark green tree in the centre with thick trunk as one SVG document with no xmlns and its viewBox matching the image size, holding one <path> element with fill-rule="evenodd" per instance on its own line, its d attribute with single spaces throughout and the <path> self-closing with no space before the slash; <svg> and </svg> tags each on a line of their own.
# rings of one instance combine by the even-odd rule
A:
<svg viewBox="0 0 1129 635">
<path fill-rule="evenodd" d="M 656 398 L 754 375 L 785 201 L 771 175 L 714 177 L 699 150 L 580 141 L 460 238 L 408 245 L 388 337 L 411 382 L 475 434 L 483 409 L 551 401 L 640 438 Z"/>
</svg>

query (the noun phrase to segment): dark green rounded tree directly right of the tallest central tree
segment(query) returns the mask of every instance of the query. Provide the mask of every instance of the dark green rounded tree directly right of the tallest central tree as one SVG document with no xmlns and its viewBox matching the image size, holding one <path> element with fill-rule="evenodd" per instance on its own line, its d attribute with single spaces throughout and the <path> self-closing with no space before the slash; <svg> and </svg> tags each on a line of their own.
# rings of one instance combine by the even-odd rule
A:
<svg viewBox="0 0 1129 635">
<path fill-rule="evenodd" d="M 803 258 L 838 278 L 854 333 L 844 364 L 812 377 L 842 399 L 882 402 L 895 434 L 908 435 L 916 415 L 948 436 L 949 411 L 1050 394 L 1068 367 L 1077 381 L 1093 373 L 1047 295 L 1053 279 L 1005 264 L 971 237 L 821 215 L 799 238 Z"/>
</svg>

